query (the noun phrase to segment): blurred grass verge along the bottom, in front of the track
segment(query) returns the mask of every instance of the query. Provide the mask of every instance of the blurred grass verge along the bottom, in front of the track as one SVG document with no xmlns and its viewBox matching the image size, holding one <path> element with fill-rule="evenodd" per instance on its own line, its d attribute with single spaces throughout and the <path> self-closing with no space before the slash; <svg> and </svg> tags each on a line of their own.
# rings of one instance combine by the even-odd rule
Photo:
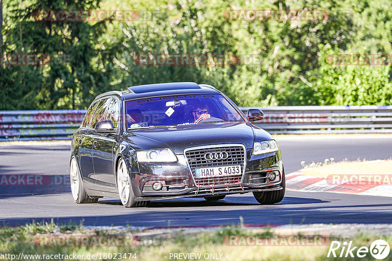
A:
<svg viewBox="0 0 392 261">
<path fill-rule="evenodd" d="M 133 234 L 132 234 L 133 233 Z M 220 227 L 210 232 L 201 233 L 186 233 L 186 231 L 176 231 L 170 234 L 162 236 L 155 234 L 154 236 L 135 236 L 135 233 L 143 235 L 143 231 L 131 231 L 131 230 L 94 230 L 85 229 L 82 226 L 74 224 L 68 224 L 64 226 L 57 226 L 54 223 L 33 223 L 25 226 L 18 227 L 1 227 L 0 229 L 0 253 L 13 254 L 19 256 L 20 253 L 24 255 L 28 254 L 39 254 L 39 255 L 84 255 L 83 258 L 76 258 L 71 260 L 93 260 L 92 258 L 86 258 L 88 255 L 97 255 L 97 260 L 141 260 L 141 261 L 164 261 L 164 260 L 179 260 L 173 258 L 174 253 L 195 253 L 200 254 L 200 258 L 197 260 L 226 260 L 226 261 L 260 261 L 260 260 L 330 260 L 327 258 L 327 253 L 330 247 L 329 240 L 337 240 L 343 243 L 344 241 L 349 242 L 352 240 L 353 246 L 367 246 L 370 247 L 371 243 L 376 239 L 384 239 L 389 244 L 392 242 L 392 235 L 378 236 L 360 234 L 350 238 L 325 238 L 328 240 L 326 243 L 316 243 L 311 245 L 296 245 L 295 238 L 298 235 L 292 235 L 293 239 L 288 235 L 276 236 L 276 242 L 268 246 L 266 245 L 246 245 L 246 239 L 249 237 L 260 238 L 271 238 L 275 237 L 269 228 L 265 229 L 248 229 L 242 227 Z M 59 244 L 59 238 L 77 238 L 80 236 L 84 237 L 107 237 L 107 236 L 124 236 L 133 235 L 132 238 L 136 240 L 132 245 L 122 246 L 94 246 L 94 245 L 75 245 L 74 240 L 70 240 L 70 243 L 66 245 L 54 245 L 54 246 L 42 246 L 37 238 L 55 238 L 52 240 L 51 245 Z M 241 241 L 228 241 L 227 239 L 233 236 L 238 236 L 239 239 L 243 238 L 242 241 L 245 245 L 238 246 Z M 285 237 L 284 240 L 281 240 Z M 50 241 L 49 241 L 50 242 Z M 87 241 L 86 241 L 87 242 Z M 230 243 L 231 242 L 231 243 Z M 253 241 L 253 244 L 255 241 Z M 260 241 L 261 242 L 261 241 Z M 268 244 L 266 241 L 263 244 Z M 289 244 L 289 245 L 288 245 Z M 300 244 L 300 243 L 298 243 Z M 321 245 L 320 245 L 321 244 Z M 336 253 L 340 254 L 342 248 Z M 125 258 L 119 258 L 119 254 L 132 253 L 127 255 Z M 171 254 L 172 253 L 172 254 Z M 111 256 L 109 255 L 111 254 Z M 117 255 L 116 255 L 117 254 Z M 99 256 L 100 255 L 100 256 Z M 116 255 L 116 259 L 115 259 Z M 355 255 L 355 253 L 354 253 Z M 343 254 L 344 256 L 344 254 Z M 24 256 L 25 257 L 25 256 Z M 23 260 L 43 260 L 38 258 L 24 258 Z M 4 259 L 6 260 L 6 259 Z M 48 260 L 48 259 L 47 259 Z M 61 259 L 55 259 L 54 256 L 49 260 L 67 260 L 64 257 Z M 70 259 L 68 259 L 70 260 Z M 195 260 L 195 258 L 188 258 L 182 256 L 180 260 Z M 343 260 L 335 258 L 334 260 Z M 350 260 L 374 260 L 374 258 L 368 253 L 365 258 L 351 258 Z M 391 260 L 391 255 L 389 259 Z"/>
</svg>

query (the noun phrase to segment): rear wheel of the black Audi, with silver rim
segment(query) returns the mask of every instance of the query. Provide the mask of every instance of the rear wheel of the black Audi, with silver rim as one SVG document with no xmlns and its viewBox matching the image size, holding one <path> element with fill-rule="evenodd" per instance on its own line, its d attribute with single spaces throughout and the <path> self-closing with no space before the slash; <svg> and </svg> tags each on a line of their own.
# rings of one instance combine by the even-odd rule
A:
<svg viewBox="0 0 392 261">
<path fill-rule="evenodd" d="M 82 176 L 80 175 L 79 167 L 74 156 L 71 158 L 70 164 L 70 183 L 73 200 L 75 200 L 76 203 L 81 204 L 98 202 L 98 197 L 91 197 L 86 193 Z"/>
</svg>

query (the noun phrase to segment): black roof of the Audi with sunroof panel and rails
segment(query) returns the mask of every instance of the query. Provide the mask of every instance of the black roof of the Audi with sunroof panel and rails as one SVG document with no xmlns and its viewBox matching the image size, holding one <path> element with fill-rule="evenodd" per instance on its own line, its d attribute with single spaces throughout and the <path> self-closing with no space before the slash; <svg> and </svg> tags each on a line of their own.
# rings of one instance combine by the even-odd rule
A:
<svg viewBox="0 0 392 261">
<path fill-rule="evenodd" d="M 191 93 L 221 93 L 215 87 L 206 84 L 196 84 L 192 82 L 160 83 L 129 87 L 126 91 L 109 91 L 102 93 L 96 99 L 107 95 L 122 96 L 124 100 L 138 99 L 144 97 L 154 97 L 162 95 L 178 95 Z"/>
</svg>

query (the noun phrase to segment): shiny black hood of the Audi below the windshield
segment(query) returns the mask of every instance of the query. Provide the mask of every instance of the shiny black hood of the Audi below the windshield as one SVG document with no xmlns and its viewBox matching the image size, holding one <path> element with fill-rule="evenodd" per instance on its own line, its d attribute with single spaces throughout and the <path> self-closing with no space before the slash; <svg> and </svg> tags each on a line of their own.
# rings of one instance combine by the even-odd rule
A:
<svg viewBox="0 0 392 261">
<path fill-rule="evenodd" d="M 224 143 L 242 143 L 247 149 L 251 149 L 254 140 L 253 131 L 249 123 L 218 122 L 140 129 L 129 131 L 129 133 L 132 133 L 137 139 L 145 137 L 150 141 L 155 140 L 157 146 L 163 143 L 167 148 L 171 148 L 174 153 L 182 154 L 184 149 L 188 147 Z M 261 129 L 257 132 L 258 139 L 271 139 L 268 132 Z"/>
</svg>

